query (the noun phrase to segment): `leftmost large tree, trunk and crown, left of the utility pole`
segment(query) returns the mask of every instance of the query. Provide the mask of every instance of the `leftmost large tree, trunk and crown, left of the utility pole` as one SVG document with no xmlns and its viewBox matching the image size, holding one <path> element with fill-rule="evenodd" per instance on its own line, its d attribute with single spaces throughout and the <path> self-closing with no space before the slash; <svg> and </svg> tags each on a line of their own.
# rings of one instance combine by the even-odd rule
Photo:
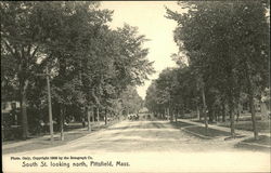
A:
<svg viewBox="0 0 271 173">
<path fill-rule="evenodd" d="M 47 38 L 37 21 L 40 12 L 36 2 L 1 2 L 1 57 L 14 62 L 12 80 L 16 81 L 22 108 L 23 137 L 28 137 L 27 89 L 37 66 L 38 52 Z M 2 59 L 2 58 L 1 58 Z M 4 76 L 5 76 L 4 75 Z M 10 76 L 11 77 L 11 76 Z"/>
</svg>

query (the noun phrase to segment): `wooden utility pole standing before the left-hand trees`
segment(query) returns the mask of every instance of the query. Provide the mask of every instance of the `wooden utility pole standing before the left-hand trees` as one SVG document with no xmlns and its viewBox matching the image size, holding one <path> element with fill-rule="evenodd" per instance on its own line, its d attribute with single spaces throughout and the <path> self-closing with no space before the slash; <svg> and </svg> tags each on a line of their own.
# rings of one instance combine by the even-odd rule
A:
<svg viewBox="0 0 271 173">
<path fill-rule="evenodd" d="M 53 116 L 52 116 L 51 89 L 50 89 L 50 77 L 49 77 L 48 66 L 46 76 L 47 76 L 47 90 L 48 90 L 50 135 L 51 135 L 51 142 L 53 142 Z"/>
</svg>

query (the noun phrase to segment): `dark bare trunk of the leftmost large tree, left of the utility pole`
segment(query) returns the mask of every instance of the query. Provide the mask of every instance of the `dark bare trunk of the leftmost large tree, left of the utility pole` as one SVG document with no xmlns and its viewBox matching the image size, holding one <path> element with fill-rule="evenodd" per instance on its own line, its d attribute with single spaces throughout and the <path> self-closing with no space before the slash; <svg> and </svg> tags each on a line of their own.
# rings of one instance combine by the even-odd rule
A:
<svg viewBox="0 0 271 173">
<path fill-rule="evenodd" d="M 28 137 L 28 120 L 27 120 L 27 97 L 26 97 L 26 89 L 28 86 L 29 81 L 25 80 L 24 85 L 21 89 L 21 110 L 22 110 L 22 127 L 23 127 L 23 138 Z"/>
</svg>

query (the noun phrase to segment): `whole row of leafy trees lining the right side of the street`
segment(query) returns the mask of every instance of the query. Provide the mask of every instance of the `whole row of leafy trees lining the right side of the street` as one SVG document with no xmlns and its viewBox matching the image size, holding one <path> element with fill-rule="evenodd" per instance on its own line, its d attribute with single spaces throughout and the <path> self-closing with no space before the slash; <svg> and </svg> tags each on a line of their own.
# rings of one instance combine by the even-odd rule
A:
<svg viewBox="0 0 271 173">
<path fill-rule="evenodd" d="M 204 1 L 181 5 L 188 13 L 167 9 L 167 17 L 178 23 L 175 41 L 181 53 L 172 57 L 179 67 L 164 70 L 152 83 L 147 108 L 159 114 L 166 109 L 170 115 L 201 111 L 206 129 L 207 112 L 210 121 L 216 115 L 224 120 L 229 110 L 234 137 L 234 110 L 248 101 L 258 138 L 255 101 L 261 102 L 270 90 L 269 3 Z"/>
</svg>

